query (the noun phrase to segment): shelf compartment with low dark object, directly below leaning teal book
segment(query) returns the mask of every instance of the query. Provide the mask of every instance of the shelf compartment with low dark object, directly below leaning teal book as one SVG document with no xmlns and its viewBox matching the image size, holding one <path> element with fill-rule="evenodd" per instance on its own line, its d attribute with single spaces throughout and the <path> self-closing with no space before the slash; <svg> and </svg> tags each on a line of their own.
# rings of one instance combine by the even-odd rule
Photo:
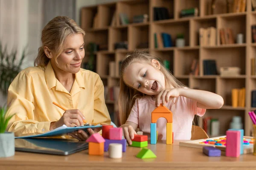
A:
<svg viewBox="0 0 256 170">
<path fill-rule="evenodd" d="M 128 28 L 110 28 L 109 29 L 109 40 L 108 40 L 108 50 L 114 51 L 115 49 L 115 43 L 116 42 L 126 42 L 127 43 L 127 49 L 125 48 L 118 48 L 118 49 L 125 49 L 128 50 Z"/>
</svg>

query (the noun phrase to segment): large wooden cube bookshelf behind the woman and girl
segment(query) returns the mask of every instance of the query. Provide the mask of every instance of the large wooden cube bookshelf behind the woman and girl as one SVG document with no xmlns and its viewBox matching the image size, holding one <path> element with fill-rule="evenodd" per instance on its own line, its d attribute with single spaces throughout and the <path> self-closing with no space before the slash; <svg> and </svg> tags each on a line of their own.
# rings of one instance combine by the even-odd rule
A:
<svg viewBox="0 0 256 170">
<path fill-rule="evenodd" d="M 256 76 L 251 75 L 251 61 L 255 57 L 256 43 L 253 43 L 251 26 L 256 24 L 256 11 L 252 10 L 251 0 L 246 0 L 246 11 L 227 12 L 226 1 L 216 0 L 215 10 L 209 14 L 211 0 L 122 0 L 115 3 L 100 4 L 81 8 L 81 28 L 86 31 L 85 46 L 89 42 L 107 44 L 108 49 L 93 53 L 96 59 L 96 72 L 101 76 L 104 85 L 108 88 L 119 86 L 119 62 L 128 52 L 138 49 L 138 45 L 146 43 L 151 54 L 170 62 L 173 75 L 189 88 L 198 88 L 221 95 L 224 106 L 218 110 L 207 110 L 204 117 L 211 116 L 220 121 L 220 134 L 225 134 L 233 116 L 241 116 L 245 135 L 252 135 L 252 121 L 249 111 L 251 107 L 251 91 L 256 90 Z M 166 7 L 169 19 L 154 20 L 154 7 Z M 198 8 L 199 14 L 195 17 L 180 17 L 180 10 Z M 228 8 L 232 11 L 232 5 Z M 116 12 L 115 12 L 116 11 Z M 111 26 L 112 18 L 116 13 L 115 23 Z M 127 14 L 129 23 L 122 25 L 120 13 Z M 96 15 L 97 14 L 97 15 Z M 148 20 L 143 23 L 133 23 L 136 15 L 148 14 Z M 98 24 L 94 23 L 97 16 Z M 95 27 L 96 25 L 96 27 Z M 201 46 L 198 40 L 199 28 L 216 28 L 216 44 Z M 235 43 L 222 44 L 220 28 L 231 27 Z M 177 34 L 182 33 L 185 39 L 184 47 L 155 48 L 154 33 L 166 32 L 172 36 L 173 42 Z M 244 35 L 244 43 L 236 43 L 236 35 Z M 126 41 L 127 49 L 115 49 L 116 42 Z M 86 52 L 84 62 L 89 57 Z M 199 60 L 198 76 L 189 75 L 191 62 Z M 241 75 L 220 76 L 204 75 L 204 59 L 215 59 L 217 69 L 220 67 L 239 67 Z M 109 62 L 115 62 L 115 74 L 109 75 Z M 245 107 L 232 107 L 232 88 L 245 88 Z M 106 99 L 109 112 L 115 115 L 114 123 L 118 125 L 117 99 Z M 200 118 L 200 126 L 202 118 Z"/>
</svg>

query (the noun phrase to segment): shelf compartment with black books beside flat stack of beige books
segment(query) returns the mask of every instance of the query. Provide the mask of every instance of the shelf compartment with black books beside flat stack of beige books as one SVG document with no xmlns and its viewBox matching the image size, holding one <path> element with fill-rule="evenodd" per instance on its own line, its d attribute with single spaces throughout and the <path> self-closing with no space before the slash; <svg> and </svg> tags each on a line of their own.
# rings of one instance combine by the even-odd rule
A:
<svg viewBox="0 0 256 170">
<path fill-rule="evenodd" d="M 222 57 L 220 57 L 222 56 Z M 204 73 L 204 59 L 215 59 L 217 71 L 221 67 L 239 67 L 241 75 L 245 75 L 245 56 L 246 47 L 238 46 L 237 48 L 206 48 L 201 50 L 201 75 Z"/>
</svg>

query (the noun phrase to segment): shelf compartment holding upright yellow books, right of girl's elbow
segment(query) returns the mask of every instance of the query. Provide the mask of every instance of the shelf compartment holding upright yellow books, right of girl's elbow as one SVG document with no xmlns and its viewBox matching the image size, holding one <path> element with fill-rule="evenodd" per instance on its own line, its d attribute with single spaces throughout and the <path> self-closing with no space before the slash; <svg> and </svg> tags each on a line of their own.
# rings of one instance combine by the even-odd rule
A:
<svg viewBox="0 0 256 170">
<path fill-rule="evenodd" d="M 233 88 L 245 88 L 245 78 L 241 78 L 241 79 L 217 78 L 216 93 L 223 97 L 225 106 L 232 107 L 232 89 Z"/>
</svg>

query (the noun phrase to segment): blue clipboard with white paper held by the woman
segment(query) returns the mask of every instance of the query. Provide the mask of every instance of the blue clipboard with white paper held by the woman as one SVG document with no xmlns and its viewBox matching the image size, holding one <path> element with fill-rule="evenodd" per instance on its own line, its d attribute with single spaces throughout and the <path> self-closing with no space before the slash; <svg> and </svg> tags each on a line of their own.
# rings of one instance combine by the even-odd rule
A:
<svg viewBox="0 0 256 170">
<path fill-rule="evenodd" d="M 49 137 L 49 136 L 64 136 L 67 135 L 67 133 L 72 133 L 76 130 L 84 130 L 87 131 L 87 128 L 96 129 L 98 127 L 102 127 L 102 125 L 96 125 L 96 126 L 79 126 L 79 127 L 67 127 L 66 125 L 63 125 L 61 127 L 58 127 L 54 130 L 50 130 L 49 132 L 38 134 L 38 135 L 30 135 L 30 136 L 18 136 L 15 138 L 35 138 L 35 137 Z"/>
</svg>

